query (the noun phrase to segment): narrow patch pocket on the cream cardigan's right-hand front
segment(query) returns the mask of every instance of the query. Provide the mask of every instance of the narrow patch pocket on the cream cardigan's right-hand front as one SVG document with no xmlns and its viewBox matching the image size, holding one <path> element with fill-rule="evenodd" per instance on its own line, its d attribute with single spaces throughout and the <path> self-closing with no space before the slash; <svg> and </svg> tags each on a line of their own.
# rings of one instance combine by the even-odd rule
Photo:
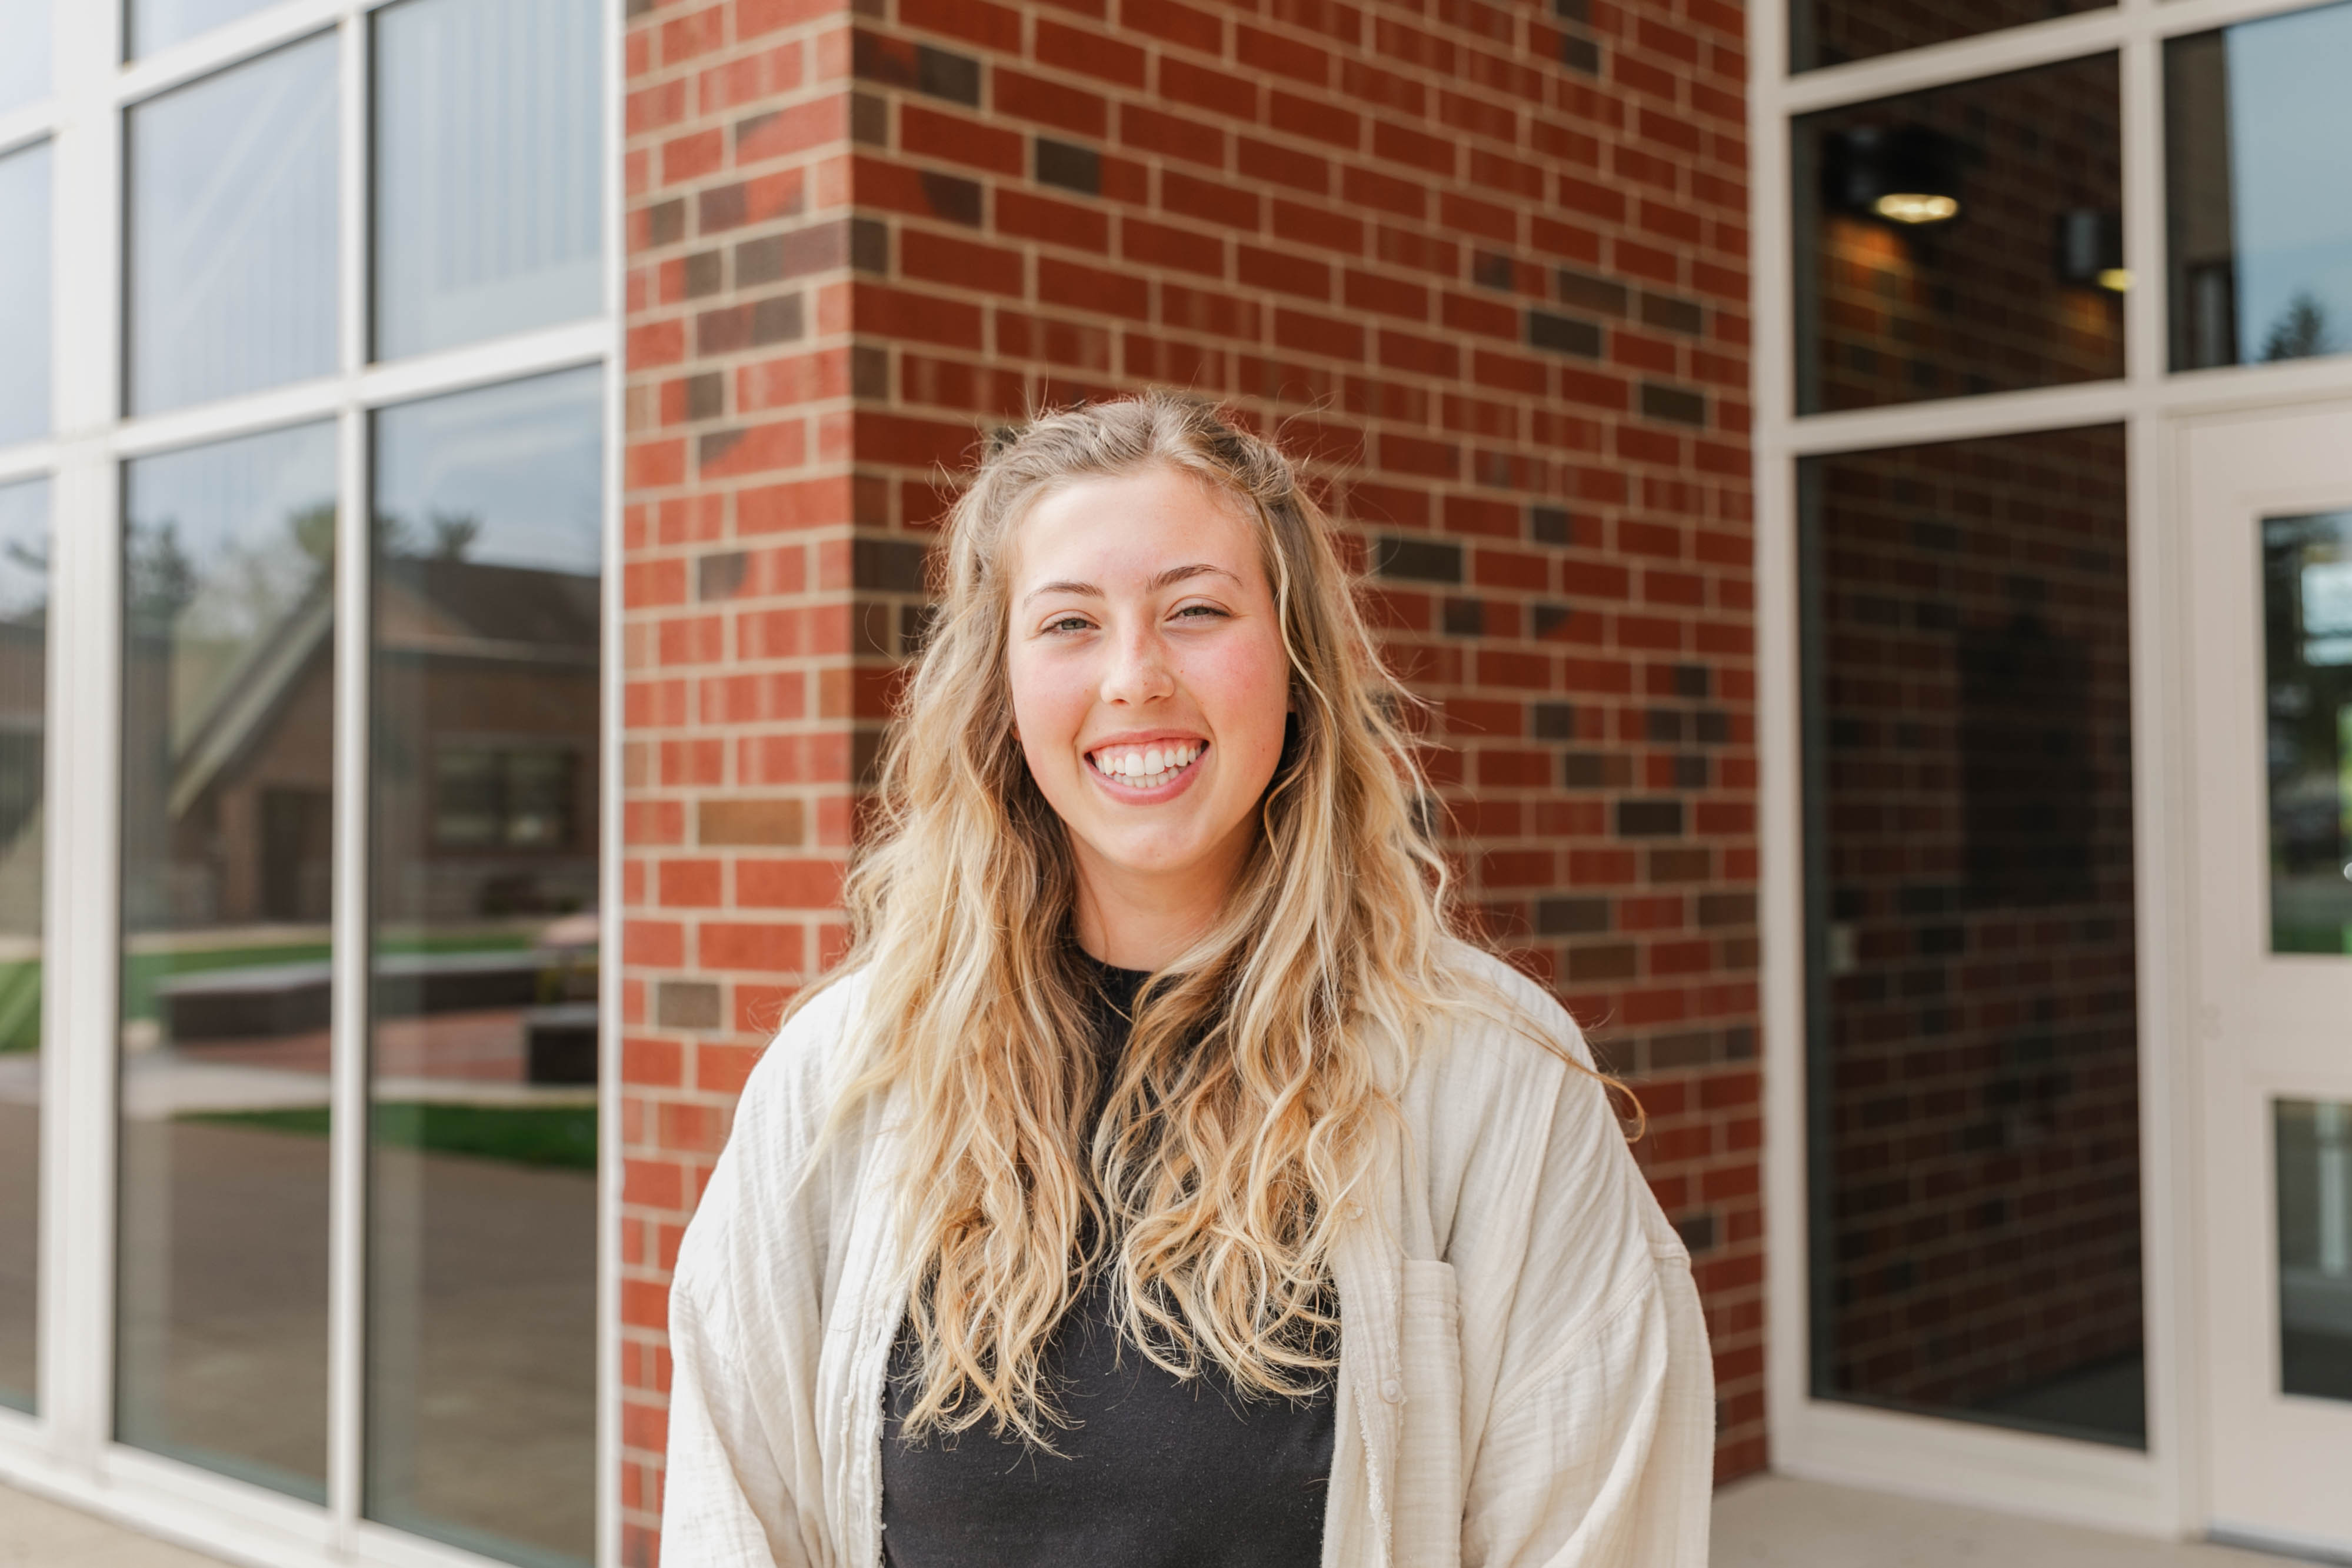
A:
<svg viewBox="0 0 2352 1568">
<path fill-rule="evenodd" d="M 1395 1556 L 1404 1568 L 1461 1563 L 1463 1352 L 1454 1265 L 1404 1260 L 1397 1373 L 1381 1389 L 1402 1403 Z"/>
</svg>

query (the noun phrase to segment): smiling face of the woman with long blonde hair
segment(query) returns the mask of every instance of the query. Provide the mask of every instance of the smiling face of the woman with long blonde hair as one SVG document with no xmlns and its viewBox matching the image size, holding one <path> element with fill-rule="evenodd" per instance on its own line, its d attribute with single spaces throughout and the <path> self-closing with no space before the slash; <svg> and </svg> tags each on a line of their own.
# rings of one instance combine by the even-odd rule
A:
<svg viewBox="0 0 2352 1568">
<path fill-rule="evenodd" d="M 1214 917 L 1289 708 L 1256 529 L 1155 465 L 1056 489 L 1011 543 L 1014 724 L 1070 830 L 1082 898 Z"/>
</svg>

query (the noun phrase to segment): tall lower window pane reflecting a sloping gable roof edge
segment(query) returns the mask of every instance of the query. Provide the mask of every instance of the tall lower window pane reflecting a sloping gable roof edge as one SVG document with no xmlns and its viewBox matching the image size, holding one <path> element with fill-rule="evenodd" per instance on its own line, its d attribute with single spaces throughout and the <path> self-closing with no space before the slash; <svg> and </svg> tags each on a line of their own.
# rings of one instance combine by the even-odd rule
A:
<svg viewBox="0 0 2352 1568">
<path fill-rule="evenodd" d="M 115 1434 L 327 1493 L 334 425 L 125 468 Z"/>
</svg>

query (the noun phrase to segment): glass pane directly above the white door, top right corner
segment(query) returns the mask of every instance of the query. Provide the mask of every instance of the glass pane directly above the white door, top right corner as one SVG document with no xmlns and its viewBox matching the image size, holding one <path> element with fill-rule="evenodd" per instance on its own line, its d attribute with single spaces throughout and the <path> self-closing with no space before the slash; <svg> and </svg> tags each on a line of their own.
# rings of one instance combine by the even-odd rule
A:
<svg viewBox="0 0 2352 1568">
<path fill-rule="evenodd" d="M 2173 369 L 2352 348 L 2352 5 L 2164 47 Z"/>
</svg>

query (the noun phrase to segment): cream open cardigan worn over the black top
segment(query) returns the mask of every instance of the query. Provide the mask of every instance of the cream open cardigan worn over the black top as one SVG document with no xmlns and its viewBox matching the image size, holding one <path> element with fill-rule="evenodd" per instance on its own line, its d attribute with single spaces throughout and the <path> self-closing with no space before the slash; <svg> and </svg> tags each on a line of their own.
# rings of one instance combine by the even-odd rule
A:
<svg viewBox="0 0 2352 1568">
<path fill-rule="evenodd" d="M 1543 990 L 1468 961 L 1522 1027 L 1585 1053 Z M 882 1375 L 906 1309 L 889 1107 L 800 1180 L 861 997 L 856 976 L 830 987 L 760 1060 L 680 1246 L 666 1568 L 882 1561 Z M 1705 1568 L 1715 1410 L 1691 1260 L 1602 1088 L 1465 1009 L 1399 1105 L 1409 1147 L 1331 1260 L 1322 1566 Z"/>
</svg>

